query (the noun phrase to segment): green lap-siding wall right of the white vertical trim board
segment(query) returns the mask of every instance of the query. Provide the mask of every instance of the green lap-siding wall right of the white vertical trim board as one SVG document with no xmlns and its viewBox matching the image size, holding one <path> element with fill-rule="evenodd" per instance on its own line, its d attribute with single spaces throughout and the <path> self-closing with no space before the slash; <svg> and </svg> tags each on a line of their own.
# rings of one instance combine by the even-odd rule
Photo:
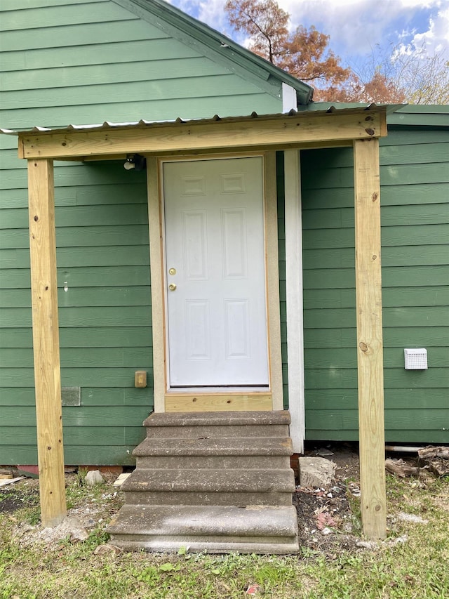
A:
<svg viewBox="0 0 449 599">
<path fill-rule="evenodd" d="M 391 126 L 380 162 L 386 440 L 447 443 L 449 130 Z M 356 440 L 351 149 L 302 152 L 302 205 L 306 435 Z M 429 369 L 406 371 L 404 348 Z"/>
</svg>

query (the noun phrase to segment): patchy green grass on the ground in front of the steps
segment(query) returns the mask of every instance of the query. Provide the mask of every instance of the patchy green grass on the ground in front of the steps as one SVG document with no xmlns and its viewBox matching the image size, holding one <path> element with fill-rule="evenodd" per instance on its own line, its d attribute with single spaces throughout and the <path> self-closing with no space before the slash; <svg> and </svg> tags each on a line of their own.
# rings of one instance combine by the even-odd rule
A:
<svg viewBox="0 0 449 599">
<path fill-rule="evenodd" d="M 260 597 L 288 599 L 449 599 L 449 480 L 427 485 L 387 476 L 389 537 L 373 549 L 303 547 L 300 555 L 102 553 L 105 524 L 118 507 L 107 485 L 67 488 L 74 506 L 100 504 L 105 517 L 82 542 L 20 545 L 12 531 L 36 508 L 0 515 L 1 599 L 234 599 L 249 584 Z M 357 502 L 352 508 L 357 511 Z M 420 515 L 427 524 L 398 513 Z M 396 539 L 407 538 L 405 542 Z M 248 596 L 248 595 L 247 595 Z"/>
</svg>

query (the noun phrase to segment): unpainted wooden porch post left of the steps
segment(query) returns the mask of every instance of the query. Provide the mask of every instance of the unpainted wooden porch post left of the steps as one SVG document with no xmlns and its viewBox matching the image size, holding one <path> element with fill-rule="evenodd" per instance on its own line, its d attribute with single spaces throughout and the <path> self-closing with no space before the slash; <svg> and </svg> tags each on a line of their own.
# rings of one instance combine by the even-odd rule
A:
<svg viewBox="0 0 449 599">
<path fill-rule="evenodd" d="M 53 161 L 28 161 L 29 249 L 41 521 L 58 525 L 65 504 L 56 281 Z"/>
</svg>

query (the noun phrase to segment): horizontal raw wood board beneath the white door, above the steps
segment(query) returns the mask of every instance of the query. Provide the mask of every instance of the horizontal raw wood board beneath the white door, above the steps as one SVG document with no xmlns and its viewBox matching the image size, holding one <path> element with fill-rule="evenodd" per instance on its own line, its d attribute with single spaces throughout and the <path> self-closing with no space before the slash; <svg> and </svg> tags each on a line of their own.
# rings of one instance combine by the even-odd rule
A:
<svg viewBox="0 0 449 599">
<path fill-rule="evenodd" d="M 243 412 L 273 409 L 272 393 L 166 393 L 166 412 Z"/>
</svg>

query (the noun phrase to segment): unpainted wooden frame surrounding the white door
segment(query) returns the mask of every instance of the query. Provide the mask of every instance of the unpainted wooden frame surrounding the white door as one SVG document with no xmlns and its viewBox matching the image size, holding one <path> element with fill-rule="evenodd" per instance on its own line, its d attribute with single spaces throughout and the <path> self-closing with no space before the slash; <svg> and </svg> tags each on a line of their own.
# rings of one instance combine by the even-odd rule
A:
<svg viewBox="0 0 449 599">
<path fill-rule="evenodd" d="M 155 412 L 227 412 L 283 409 L 281 314 L 279 303 L 279 256 L 275 152 L 206 154 L 178 160 L 217 160 L 261 157 L 264 178 L 264 252 L 267 303 L 268 390 L 210 393 L 170 390 L 167 376 L 167 315 L 164 268 L 163 173 L 164 162 L 177 159 L 147 159 L 149 255 L 152 281 L 152 331 Z"/>
</svg>

